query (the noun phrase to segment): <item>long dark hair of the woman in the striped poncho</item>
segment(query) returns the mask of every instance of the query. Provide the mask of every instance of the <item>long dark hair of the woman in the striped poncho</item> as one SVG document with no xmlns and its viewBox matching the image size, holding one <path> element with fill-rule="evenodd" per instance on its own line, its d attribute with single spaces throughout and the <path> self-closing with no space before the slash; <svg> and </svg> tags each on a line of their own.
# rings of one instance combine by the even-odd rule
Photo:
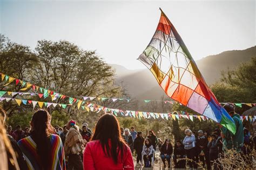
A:
<svg viewBox="0 0 256 170">
<path fill-rule="evenodd" d="M 33 114 L 31 120 L 31 138 L 36 142 L 36 150 L 41 160 L 43 169 L 51 166 L 51 142 L 50 133 L 54 133 L 51 126 L 51 115 L 44 110 L 39 110 Z"/>
</svg>

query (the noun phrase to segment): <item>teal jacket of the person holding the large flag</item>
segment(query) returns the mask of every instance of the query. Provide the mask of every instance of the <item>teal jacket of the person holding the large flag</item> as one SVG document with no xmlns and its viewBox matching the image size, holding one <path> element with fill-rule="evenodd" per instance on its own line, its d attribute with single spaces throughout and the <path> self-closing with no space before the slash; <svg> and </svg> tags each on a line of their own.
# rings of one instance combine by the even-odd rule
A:
<svg viewBox="0 0 256 170">
<path fill-rule="evenodd" d="M 232 119 L 234 120 L 235 127 L 237 128 L 235 134 L 228 131 L 224 126 L 221 127 L 221 131 L 225 135 L 225 138 L 223 139 L 223 151 L 225 152 L 226 149 L 231 149 L 233 146 L 233 148 L 239 153 L 241 152 L 241 148 L 244 144 L 244 130 L 239 114 L 235 113 L 232 116 Z"/>
</svg>

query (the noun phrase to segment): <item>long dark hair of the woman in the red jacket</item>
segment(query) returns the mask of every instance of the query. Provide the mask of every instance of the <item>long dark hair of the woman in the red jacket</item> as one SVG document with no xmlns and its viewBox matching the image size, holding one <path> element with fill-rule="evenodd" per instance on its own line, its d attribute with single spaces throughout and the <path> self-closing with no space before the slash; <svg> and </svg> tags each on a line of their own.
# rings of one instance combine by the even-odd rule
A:
<svg viewBox="0 0 256 170">
<path fill-rule="evenodd" d="M 111 149 L 109 139 L 111 140 Z M 121 160 L 123 160 L 124 149 L 127 147 L 124 147 L 126 144 L 121 137 L 119 122 L 114 115 L 104 114 L 99 118 L 91 140 L 100 141 L 105 155 L 112 157 L 114 164 L 118 162 L 119 153 L 121 153 Z"/>
</svg>

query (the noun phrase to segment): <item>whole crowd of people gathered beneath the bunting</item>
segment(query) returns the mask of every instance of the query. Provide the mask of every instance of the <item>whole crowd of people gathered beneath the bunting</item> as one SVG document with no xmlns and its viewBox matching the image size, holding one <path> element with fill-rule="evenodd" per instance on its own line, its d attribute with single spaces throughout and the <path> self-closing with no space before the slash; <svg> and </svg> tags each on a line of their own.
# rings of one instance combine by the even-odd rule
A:
<svg viewBox="0 0 256 170">
<path fill-rule="evenodd" d="M 235 134 L 221 125 L 211 134 L 187 129 L 185 138 L 174 143 L 170 138 L 163 142 L 153 130 L 146 131 L 144 136 L 134 127 L 120 127 L 112 114 L 100 117 L 92 132 L 88 124 L 79 128 L 74 120 L 63 127 L 53 127 L 51 115 L 39 110 L 33 114 L 30 128 L 23 131 L 17 125 L 12 130 L 10 125 L 2 127 L 6 114 L 1 108 L 0 149 L 6 154 L 0 153 L 0 158 L 6 160 L 8 169 L 134 169 L 152 167 L 159 149 L 164 167 L 170 168 L 173 162 L 174 168 L 198 168 L 200 163 L 207 169 L 223 169 L 218 158 L 223 158 L 230 149 L 246 158 L 256 148 L 256 137 L 252 138 L 242 126 L 234 105 L 226 104 L 224 108 L 234 120 Z M 136 166 L 132 154 L 137 155 Z M 252 159 L 245 161 L 252 165 Z"/>
</svg>

